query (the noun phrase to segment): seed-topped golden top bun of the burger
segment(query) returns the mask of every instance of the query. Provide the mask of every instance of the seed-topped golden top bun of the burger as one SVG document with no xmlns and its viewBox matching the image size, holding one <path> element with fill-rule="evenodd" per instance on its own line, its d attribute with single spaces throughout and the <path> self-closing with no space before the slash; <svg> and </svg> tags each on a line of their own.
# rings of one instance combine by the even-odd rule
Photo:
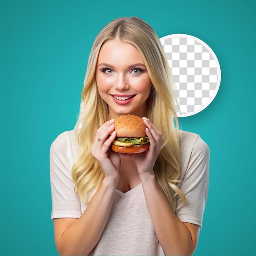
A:
<svg viewBox="0 0 256 256">
<path fill-rule="evenodd" d="M 146 137 L 146 125 L 143 119 L 134 115 L 121 115 L 114 119 L 117 137 Z"/>
</svg>

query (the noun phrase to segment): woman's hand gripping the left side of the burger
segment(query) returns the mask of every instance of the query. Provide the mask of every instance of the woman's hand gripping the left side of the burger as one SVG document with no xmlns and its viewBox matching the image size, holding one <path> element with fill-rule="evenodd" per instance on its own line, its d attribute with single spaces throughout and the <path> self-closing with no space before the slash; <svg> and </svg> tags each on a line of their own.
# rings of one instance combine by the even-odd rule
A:
<svg viewBox="0 0 256 256">
<path fill-rule="evenodd" d="M 98 160 L 105 178 L 119 179 L 120 156 L 109 149 L 116 137 L 114 120 L 107 121 L 96 132 L 91 153 Z"/>
</svg>

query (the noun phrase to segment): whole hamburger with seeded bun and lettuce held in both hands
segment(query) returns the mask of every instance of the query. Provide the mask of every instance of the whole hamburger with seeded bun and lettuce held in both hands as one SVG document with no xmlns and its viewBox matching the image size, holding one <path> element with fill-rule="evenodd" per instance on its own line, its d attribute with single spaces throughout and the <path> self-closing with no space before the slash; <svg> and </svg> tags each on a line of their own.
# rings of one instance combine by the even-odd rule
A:
<svg viewBox="0 0 256 256">
<path fill-rule="evenodd" d="M 141 153 L 148 150 L 149 139 L 146 137 L 146 125 L 143 119 L 134 115 L 121 115 L 114 119 L 117 137 L 111 144 L 118 153 Z"/>
</svg>

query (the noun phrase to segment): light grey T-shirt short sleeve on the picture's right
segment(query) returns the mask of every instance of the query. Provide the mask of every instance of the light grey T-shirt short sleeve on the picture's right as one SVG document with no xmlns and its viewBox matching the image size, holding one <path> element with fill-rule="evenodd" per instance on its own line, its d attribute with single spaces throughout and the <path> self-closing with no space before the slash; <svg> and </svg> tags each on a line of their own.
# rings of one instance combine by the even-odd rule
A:
<svg viewBox="0 0 256 256">
<path fill-rule="evenodd" d="M 202 227 L 209 187 L 209 147 L 199 135 L 196 138 L 193 136 L 185 147 L 182 149 L 186 150 L 187 156 L 181 164 L 185 171 L 180 189 L 186 196 L 186 203 L 176 214 L 182 222 Z M 179 198 L 177 204 L 180 202 Z"/>
</svg>

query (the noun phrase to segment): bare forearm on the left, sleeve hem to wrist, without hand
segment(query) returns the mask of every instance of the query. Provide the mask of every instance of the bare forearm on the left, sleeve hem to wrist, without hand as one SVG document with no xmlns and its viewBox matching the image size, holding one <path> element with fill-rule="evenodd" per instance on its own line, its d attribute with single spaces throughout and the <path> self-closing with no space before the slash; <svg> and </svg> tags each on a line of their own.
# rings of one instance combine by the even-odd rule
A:
<svg viewBox="0 0 256 256">
<path fill-rule="evenodd" d="M 118 180 L 104 179 L 79 219 L 54 219 L 54 237 L 60 255 L 88 255 L 108 220 Z"/>
</svg>

